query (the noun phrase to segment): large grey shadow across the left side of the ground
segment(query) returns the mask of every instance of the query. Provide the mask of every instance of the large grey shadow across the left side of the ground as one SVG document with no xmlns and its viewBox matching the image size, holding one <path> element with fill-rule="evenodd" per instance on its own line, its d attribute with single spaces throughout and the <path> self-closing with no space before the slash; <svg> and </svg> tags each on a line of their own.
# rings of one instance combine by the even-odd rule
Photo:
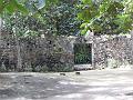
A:
<svg viewBox="0 0 133 100">
<path fill-rule="evenodd" d="M 6 79 L 6 77 L 4 77 Z M 89 86 L 65 84 L 66 81 L 57 78 L 33 77 L 33 76 L 14 76 L 6 79 L 4 84 L 0 88 L 1 99 L 44 99 L 54 96 L 70 94 L 85 89 Z"/>
</svg>

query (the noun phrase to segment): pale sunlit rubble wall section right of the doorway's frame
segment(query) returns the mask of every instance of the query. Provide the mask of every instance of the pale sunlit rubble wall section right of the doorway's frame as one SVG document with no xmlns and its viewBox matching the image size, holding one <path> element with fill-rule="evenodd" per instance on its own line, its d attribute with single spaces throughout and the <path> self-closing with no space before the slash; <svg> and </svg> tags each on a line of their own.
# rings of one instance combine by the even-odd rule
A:
<svg viewBox="0 0 133 100">
<path fill-rule="evenodd" d="M 94 66 L 96 68 L 117 68 L 132 64 L 132 39 L 114 37 L 94 41 Z"/>
</svg>

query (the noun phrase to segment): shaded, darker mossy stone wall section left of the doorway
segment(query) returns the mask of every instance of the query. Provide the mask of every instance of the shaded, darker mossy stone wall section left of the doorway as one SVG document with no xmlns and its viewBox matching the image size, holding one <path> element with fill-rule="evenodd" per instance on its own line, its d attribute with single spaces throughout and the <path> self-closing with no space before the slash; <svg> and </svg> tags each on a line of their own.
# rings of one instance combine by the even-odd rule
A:
<svg viewBox="0 0 133 100">
<path fill-rule="evenodd" d="M 14 38 L 0 40 L 0 70 L 18 71 L 18 50 Z M 21 71 L 72 71 L 73 54 L 70 40 L 64 37 L 24 38 L 19 40 Z"/>
</svg>

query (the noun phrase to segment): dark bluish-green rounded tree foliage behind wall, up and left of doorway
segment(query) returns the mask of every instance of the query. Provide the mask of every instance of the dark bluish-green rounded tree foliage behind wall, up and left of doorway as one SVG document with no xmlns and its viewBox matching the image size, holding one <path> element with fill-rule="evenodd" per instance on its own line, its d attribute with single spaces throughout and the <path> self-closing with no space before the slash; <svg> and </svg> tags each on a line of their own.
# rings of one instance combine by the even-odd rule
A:
<svg viewBox="0 0 133 100">
<path fill-rule="evenodd" d="M 79 31 L 80 21 L 76 20 L 78 10 L 72 2 L 61 0 L 45 11 L 45 27 L 52 34 L 75 34 Z"/>
</svg>

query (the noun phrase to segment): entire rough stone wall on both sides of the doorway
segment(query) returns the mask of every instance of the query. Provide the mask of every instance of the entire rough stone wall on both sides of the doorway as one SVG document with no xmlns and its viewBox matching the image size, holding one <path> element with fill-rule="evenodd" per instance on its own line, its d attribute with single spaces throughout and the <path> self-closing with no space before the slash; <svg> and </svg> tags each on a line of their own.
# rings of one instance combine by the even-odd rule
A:
<svg viewBox="0 0 133 100">
<path fill-rule="evenodd" d="M 72 71 L 74 67 L 74 43 L 93 43 L 93 67 L 119 67 L 132 63 L 131 38 L 114 37 L 110 39 L 53 37 L 20 39 L 21 71 Z M 7 38 L 0 42 L 0 69 L 17 71 L 18 53 L 14 39 Z"/>
</svg>

